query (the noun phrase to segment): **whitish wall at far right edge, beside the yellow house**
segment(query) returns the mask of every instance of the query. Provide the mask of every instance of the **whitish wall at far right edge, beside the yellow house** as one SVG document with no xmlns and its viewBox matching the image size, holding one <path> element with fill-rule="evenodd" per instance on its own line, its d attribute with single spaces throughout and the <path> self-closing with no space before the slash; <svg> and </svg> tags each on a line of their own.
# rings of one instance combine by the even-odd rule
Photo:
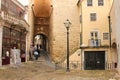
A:
<svg viewBox="0 0 120 80">
<path fill-rule="evenodd" d="M 120 72 L 120 0 L 114 0 L 110 11 L 112 39 L 117 43 L 118 70 Z"/>
</svg>

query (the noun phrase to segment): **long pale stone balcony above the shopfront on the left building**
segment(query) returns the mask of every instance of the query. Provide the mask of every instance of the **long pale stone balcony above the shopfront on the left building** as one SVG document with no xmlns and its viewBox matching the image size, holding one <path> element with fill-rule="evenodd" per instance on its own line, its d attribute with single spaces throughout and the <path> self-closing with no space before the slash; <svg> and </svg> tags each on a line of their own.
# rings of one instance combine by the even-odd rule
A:
<svg viewBox="0 0 120 80">
<path fill-rule="evenodd" d="M 2 18 L 4 21 L 10 24 L 15 24 L 15 25 L 22 26 L 22 27 L 28 26 L 27 22 L 24 19 L 19 18 L 17 16 L 13 16 L 4 11 L 0 11 L 0 18 Z"/>
</svg>

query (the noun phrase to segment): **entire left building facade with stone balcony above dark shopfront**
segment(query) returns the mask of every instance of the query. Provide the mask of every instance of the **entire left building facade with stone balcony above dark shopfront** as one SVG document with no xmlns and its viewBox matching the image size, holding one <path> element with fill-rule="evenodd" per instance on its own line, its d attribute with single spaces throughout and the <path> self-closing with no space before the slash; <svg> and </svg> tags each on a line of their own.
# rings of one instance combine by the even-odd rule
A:
<svg viewBox="0 0 120 80">
<path fill-rule="evenodd" d="M 29 25 L 24 20 L 26 8 L 17 0 L 0 0 L 0 65 L 10 64 L 11 49 L 17 46 L 26 61 Z"/>
</svg>

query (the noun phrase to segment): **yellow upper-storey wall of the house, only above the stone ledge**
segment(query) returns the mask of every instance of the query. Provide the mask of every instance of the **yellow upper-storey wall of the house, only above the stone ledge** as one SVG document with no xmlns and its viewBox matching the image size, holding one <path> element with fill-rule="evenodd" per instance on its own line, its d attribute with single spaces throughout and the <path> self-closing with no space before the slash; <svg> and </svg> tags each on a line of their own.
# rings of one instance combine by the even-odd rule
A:
<svg viewBox="0 0 120 80">
<path fill-rule="evenodd" d="M 83 0 L 81 4 L 83 19 L 83 44 L 88 45 L 88 39 L 90 39 L 91 31 L 98 31 L 99 39 L 101 39 L 101 45 L 109 45 L 109 40 L 103 41 L 103 33 L 109 32 L 108 15 L 110 11 L 110 0 L 104 0 L 104 6 L 98 6 L 97 1 L 98 0 L 93 0 L 93 6 L 87 6 L 87 0 Z M 96 21 L 90 21 L 90 13 L 96 13 Z"/>
</svg>

